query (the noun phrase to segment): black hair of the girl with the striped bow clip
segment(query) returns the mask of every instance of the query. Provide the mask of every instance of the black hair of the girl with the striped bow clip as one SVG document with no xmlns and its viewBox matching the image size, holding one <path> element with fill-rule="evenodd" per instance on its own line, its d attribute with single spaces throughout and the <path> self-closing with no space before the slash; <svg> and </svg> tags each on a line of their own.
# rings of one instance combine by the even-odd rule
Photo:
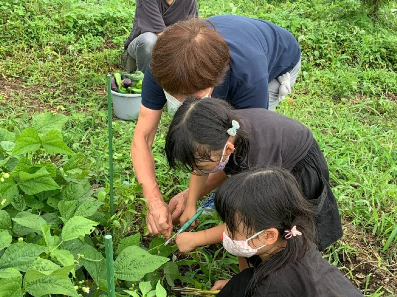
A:
<svg viewBox="0 0 397 297">
<path fill-rule="evenodd" d="M 189 98 L 175 112 L 166 136 L 166 155 L 171 168 L 193 171 L 201 161 L 214 161 L 211 152 L 222 151 L 230 135 L 231 121 L 240 124 L 231 159 L 244 167 L 249 151 L 249 137 L 234 108 L 222 99 Z M 222 152 L 220 152 L 221 154 Z M 219 158 L 221 155 L 219 154 Z"/>
</svg>

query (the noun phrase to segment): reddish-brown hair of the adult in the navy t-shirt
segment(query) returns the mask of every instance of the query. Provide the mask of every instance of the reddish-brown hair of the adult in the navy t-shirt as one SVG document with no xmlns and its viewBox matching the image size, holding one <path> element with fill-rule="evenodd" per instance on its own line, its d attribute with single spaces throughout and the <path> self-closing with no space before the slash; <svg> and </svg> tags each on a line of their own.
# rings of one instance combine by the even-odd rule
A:
<svg viewBox="0 0 397 297">
<path fill-rule="evenodd" d="M 191 18 L 171 25 L 158 38 L 150 70 L 168 93 L 189 97 L 222 84 L 229 60 L 229 47 L 214 24 Z"/>
</svg>

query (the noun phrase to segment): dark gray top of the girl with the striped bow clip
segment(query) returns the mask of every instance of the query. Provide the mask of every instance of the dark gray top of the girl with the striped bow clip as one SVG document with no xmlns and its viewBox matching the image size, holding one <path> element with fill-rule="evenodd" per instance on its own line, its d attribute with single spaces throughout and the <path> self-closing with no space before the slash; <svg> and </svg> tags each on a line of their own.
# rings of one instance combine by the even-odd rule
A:
<svg viewBox="0 0 397 297">
<path fill-rule="evenodd" d="M 291 170 L 313 143 L 310 129 L 277 112 L 260 108 L 234 112 L 241 118 L 240 128 L 250 137 L 247 159 L 250 168 L 275 166 Z M 224 169 L 228 175 L 246 169 L 236 166 L 233 159 L 232 155 Z"/>
</svg>

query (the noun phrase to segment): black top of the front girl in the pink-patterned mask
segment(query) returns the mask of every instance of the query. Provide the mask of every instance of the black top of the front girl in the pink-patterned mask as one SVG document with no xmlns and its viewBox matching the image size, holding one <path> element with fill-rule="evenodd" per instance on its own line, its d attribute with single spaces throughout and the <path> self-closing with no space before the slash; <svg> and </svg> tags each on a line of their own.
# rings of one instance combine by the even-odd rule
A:
<svg viewBox="0 0 397 297">
<path fill-rule="evenodd" d="M 293 239 L 292 239 L 293 240 Z M 251 257 L 252 260 L 258 256 Z M 257 267 L 261 261 L 253 261 Z M 256 268 L 247 268 L 236 274 L 217 297 L 243 297 Z M 264 278 L 252 297 L 362 297 L 357 287 L 322 258 L 314 244 L 303 259 L 286 265 Z"/>
</svg>

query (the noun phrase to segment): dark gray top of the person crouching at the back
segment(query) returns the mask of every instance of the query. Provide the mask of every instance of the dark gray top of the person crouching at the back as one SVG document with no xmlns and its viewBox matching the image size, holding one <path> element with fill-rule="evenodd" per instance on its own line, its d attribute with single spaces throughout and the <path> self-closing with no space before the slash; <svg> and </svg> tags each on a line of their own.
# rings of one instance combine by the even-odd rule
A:
<svg viewBox="0 0 397 297">
<path fill-rule="evenodd" d="M 188 15 L 198 16 L 196 0 L 137 0 L 132 32 L 124 43 L 124 48 L 136 37 L 146 32 L 159 33 L 167 26 L 185 19 Z"/>
</svg>

